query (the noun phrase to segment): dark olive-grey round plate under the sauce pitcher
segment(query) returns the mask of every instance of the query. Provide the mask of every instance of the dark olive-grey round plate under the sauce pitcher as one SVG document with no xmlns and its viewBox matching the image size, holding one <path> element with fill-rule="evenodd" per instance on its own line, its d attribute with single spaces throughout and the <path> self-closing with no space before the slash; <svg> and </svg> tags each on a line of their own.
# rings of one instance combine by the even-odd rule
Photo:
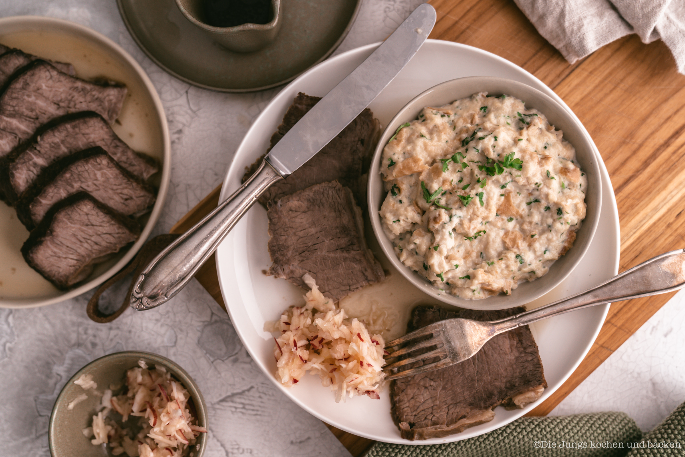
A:
<svg viewBox="0 0 685 457">
<path fill-rule="evenodd" d="M 276 40 L 253 53 L 219 46 L 173 0 L 117 0 L 126 27 L 162 69 L 201 88 L 254 92 L 286 84 L 327 58 L 347 36 L 360 0 L 282 0 Z"/>
</svg>

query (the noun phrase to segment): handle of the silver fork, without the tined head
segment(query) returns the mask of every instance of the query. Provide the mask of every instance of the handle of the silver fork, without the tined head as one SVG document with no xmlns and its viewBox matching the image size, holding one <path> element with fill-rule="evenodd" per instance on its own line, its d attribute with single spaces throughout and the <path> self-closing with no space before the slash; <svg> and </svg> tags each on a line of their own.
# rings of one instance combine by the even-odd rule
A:
<svg viewBox="0 0 685 457">
<path fill-rule="evenodd" d="M 685 249 L 678 249 L 651 258 L 587 291 L 492 323 L 495 325 L 495 334 L 499 334 L 564 312 L 612 301 L 677 291 L 683 286 L 685 286 Z"/>
</svg>

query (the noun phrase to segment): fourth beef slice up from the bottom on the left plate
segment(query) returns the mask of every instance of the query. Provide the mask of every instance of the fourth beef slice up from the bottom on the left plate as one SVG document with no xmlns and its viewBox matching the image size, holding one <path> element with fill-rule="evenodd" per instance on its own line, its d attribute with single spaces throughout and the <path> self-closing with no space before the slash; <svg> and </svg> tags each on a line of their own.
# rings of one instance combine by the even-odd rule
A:
<svg viewBox="0 0 685 457">
<path fill-rule="evenodd" d="M 109 123 L 119 116 L 123 86 L 103 86 L 67 75 L 45 60 L 16 71 L 0 95 L 0 157 L 36 129 L 69 112 L 95 111 Z"/>
</svg>

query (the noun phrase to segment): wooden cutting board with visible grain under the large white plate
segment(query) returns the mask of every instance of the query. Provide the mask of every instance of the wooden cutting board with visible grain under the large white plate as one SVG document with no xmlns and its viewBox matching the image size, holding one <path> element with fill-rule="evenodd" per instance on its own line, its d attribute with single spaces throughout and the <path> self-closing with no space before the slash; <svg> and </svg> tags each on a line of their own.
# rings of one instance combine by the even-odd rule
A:
<svg viewBox="0 0 685 457">
<path fill-rule="evenodd" d="M 471 45 L 522 66 L 552 88 L 595 140 L 612 180 L 621 222 L 620 271 L 685 247 L 685 76 L 669 49 L 636 35 L 571 65 L 538 34 L 511 0 L 432 0 L 430 36 Z M 182 233 L 219 202 L 219 188 L 171 230 Z M 224 306 L 214 256 L 196 275 Z M 674 293 L 612 304 L 580 367 L 530 416 L 547 415 L 661 308 Z M 225 307 L 225 306 L 224 306 Z M 332 429 L 353 456 L 372 441 Z"/>
</svg>

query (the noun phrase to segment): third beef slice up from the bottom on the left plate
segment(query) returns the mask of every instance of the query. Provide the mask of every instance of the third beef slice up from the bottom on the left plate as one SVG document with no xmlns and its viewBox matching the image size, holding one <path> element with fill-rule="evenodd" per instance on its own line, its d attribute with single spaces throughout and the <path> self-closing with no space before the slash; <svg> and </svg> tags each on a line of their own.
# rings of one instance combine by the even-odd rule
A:
<svg viewBox="0 0 685 457">
<path fill-rule="evenodd" d="M 128 147 L 96 112 L 67 114 L 40 127 L 34 136 L 0 159 L 0 192 L 10 204 L 47 166 L 90 147 L 99 146 L 142 180 L 159 170 L 158 163 Z"/>
</svg>

